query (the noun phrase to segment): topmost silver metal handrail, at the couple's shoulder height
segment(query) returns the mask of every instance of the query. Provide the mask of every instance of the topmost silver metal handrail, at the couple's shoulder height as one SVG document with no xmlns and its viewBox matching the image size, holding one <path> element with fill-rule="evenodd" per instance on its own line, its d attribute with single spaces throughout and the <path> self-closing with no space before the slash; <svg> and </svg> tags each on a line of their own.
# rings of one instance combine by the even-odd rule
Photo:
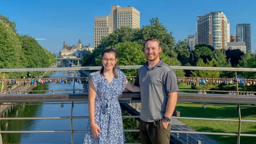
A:
<svg viewBox="0 0 256 144">
<path fill-rule="evenodd" d="M 117 69 L 138 69 L 142 65 L 117 66 Z M 233 68 L 233 67 L 204 67 L 204 66 L 170 66 L 172 69 L 183 70 L 206 70 L 206 71 L 250 71 L 256 72 L 256 68 Z M 101 66 L 59 67 L 59 68 L 1 68 L 0 72 L 28 72 L 28 71 L 90 71 L 100 70 Z"/>
</svg>

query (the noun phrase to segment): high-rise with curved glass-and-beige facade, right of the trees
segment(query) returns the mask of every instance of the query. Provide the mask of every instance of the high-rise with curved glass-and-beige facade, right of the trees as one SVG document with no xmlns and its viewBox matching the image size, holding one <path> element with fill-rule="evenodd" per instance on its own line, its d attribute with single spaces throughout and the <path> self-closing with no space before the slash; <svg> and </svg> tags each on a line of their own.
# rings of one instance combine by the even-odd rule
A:
<svg viewBox="0 0 256 144">
<path fill-rule="evenodd" d="M 197 43 L 206 43 L 216 49 L 228 48 L 228 19 L 223 12 L 209 12 L 197 16 Z"/>
</svg>

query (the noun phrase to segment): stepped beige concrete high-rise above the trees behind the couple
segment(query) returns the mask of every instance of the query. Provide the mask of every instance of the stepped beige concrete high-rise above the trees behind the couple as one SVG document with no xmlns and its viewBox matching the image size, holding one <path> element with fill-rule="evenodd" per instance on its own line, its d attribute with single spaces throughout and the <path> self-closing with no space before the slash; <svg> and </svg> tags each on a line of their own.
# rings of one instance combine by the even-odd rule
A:
<svg viewBox="0 0 256 144">
<path fill-rule="evenodd" d="M 111 14 L 107 17 L 94 17 L 94 47 L 100 45 L 100 40 L 121 26 L 140 28 L 140 11 L 134 7 L 111 6 Z"/>
</svg>

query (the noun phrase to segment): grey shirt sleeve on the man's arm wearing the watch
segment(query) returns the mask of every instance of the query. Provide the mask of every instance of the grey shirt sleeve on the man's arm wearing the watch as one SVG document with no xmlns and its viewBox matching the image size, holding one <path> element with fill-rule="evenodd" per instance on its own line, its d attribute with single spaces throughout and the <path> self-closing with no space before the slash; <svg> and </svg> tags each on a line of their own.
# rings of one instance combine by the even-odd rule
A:
<svg viewBox="0 0 256 144">
<path fill-rule="evenodd" d="M 163 83 L 167 94 L 179 91 L 176 74 L 173 70 L 170 70 L 165 74 Z"/>
</svg>

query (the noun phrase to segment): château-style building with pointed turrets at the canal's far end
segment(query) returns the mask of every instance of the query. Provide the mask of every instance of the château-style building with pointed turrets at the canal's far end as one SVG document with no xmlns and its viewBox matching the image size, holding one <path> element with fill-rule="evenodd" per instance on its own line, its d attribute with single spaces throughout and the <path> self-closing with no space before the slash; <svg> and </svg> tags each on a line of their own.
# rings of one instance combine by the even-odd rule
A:
<svg viewBox="0 0 256 144">
<path fill-rule="evenodd" d="M 83 54 L 85 51 L 92 52 L 93 47 L 90 47 L 89 45 L 82 45 L 81 40 L 79 39 L 77 46 L 72 45 L 69 46 L 65 43 L 63 43 L 62 51 L 59 52 L 59 55 L 62 57 L 83 57 Z"/>
</svg>

